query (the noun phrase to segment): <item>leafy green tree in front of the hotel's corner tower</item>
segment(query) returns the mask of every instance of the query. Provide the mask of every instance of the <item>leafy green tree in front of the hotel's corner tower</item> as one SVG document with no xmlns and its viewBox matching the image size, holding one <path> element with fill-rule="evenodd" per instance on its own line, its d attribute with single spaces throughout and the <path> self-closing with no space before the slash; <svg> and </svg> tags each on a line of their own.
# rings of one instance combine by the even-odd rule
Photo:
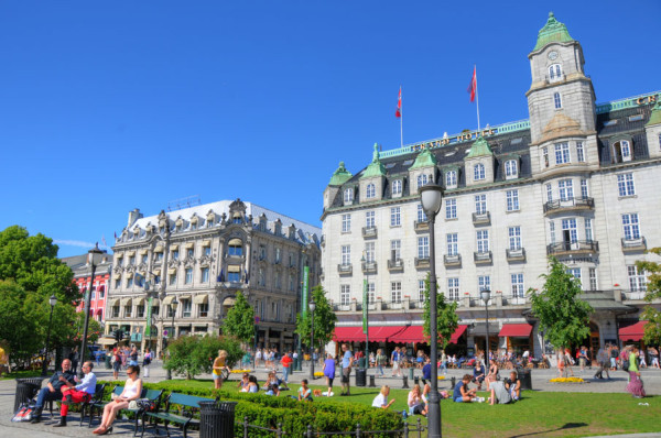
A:
<svg viewBox="0 0 661 438">
<path fill-rule="evenodd" d="M 578 280 L 566 272 L 566 266 L 555 258 L 549 259 L 549 274 L 541 292 L 528 289 L 532 315 L 540 320 L 546 339 L 556 348 L 582 342 L 589 336 L 589 316 L 593 308 L 582 300 Z"/>
</svg>

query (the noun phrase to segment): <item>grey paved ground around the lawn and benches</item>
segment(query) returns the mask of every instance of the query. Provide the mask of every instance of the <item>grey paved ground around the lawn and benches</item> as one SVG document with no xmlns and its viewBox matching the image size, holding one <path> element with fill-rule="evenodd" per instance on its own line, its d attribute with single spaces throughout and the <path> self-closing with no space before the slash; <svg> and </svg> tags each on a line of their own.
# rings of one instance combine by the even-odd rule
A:
<svg viewBox="0 0 661 438">
<path fill-rule="evenodd" d="M 147 382 L 160 382 L 165 380 L 165 371 L 160 366 L 160 362 L 155 362 L 151 366 L 149 377 L 143 377 Z M 321 366 L 317 368 L 317 371 Z M 104 365 L 96 368 L 95 373 L 99 380 L 112 380 L 112 373 L 110 370 L 106 370 Z M 376 385 L 380 386 L 388 384 L 393 388 L 402 386 L 402 377 L 392 377 L 390 369 L 384 370 L 386 376 L 377 376 Z M 404 375 L 409 375 L 409 370 L 403 370 Z M 469 370 L 468 370 L 469 371 Z M 506 372 L 501 371 L 501 375 Z M 467 370 L 448 370 L 446 380 L 440 383 L 441 390 L 447 390 L 451 385 L 451 377 L 460 377 Z M 627 384 L 627 374 L 622 371 L 613 372 L 611 380 L 595 380 L 593 379 L 595 370 L 586 369 L 584 372 L 576 369 L 574 373 L 576 376 L 586 380 L 583 384 L 557 384 L 550 383 L 549 380 L 557 376 L 555 370 L 532 370 L 532 387 L 533 391 L 546 391 L 546 392 L 587 392 L 587 393 L 622 393 Z M 267 376 L 267 370 L 260 368 L 254 372 L 258 380 L 263 381 Z M 368 375 L 376 374 L 376 370 L 370 369 Z M 414 371 L 415 376 L 420 376 L 421 371 Z M 658 369 L 646 369 L 641 372 L 642 380 L 644 382 L 646 391 L 649 395 L 661 394 L 661 370 Z M 121 375 L 122 380 L 126 375 Z M 202 375 L 201 379 L 210 379 L 210 374 Z M 232 377 L 236 379 L 236 377 Z M 310 368 L 305 366 L 302 372 L 294 372 L 290 376 L 290 383 L 299 383 L 302 379 L 310 380 Z M 318 382 L 318 381 L 317 381 Z M 315 383 L 317 383 L 315 382 Z M 369 381 L 368 381 L 369 382 Z M 351 377 L 354 383 L 354 377 Z M 412 382 L 410 382 L 412 383 Z M 209 387 L 212 383 L 209 382 Z M 94 437 L 90 428 L 78 426 L 78 415 L 73 414 L 69 418 L 69 426 L 66 428 L 53 428 L 52 425 L 57 423 L 58 414 L 55 418 L 51 419 L 47 413 L 44 413 L 44 421 L 37 425 L 31 425 L 25 423 L 11 423 L 13 416 L 13 403 L 15 393 L 14 381 L 0 381 L 0 438 L 55 438 L 55 437 Z M 117 421 L 112 435 L 120 435 L 124 437 L 132 436 L 132 426 L 127 421 Z M 174 438 L 178 438 L 182 434 L 178 429 L 174 429 L 171 435 Z M 191 434 L 191 436 L 197 436 L 197 432 Z M 640 435 L 622 435 L 620 437 L 661 437 L 660 434 L 640 434 Z"/>
</svg>

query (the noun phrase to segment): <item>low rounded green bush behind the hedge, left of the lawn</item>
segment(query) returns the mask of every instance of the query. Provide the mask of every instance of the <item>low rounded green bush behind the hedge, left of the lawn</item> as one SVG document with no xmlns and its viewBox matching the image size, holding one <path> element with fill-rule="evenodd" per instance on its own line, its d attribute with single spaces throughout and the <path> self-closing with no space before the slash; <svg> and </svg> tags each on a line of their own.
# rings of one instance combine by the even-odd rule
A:
<svg viewBox="0 0 661 438">
<path fill-rule="evenodd" d="M 182 336 L 167 346 L 170 359 L 164 361 L 163 368 L 191 380 L 203 372 L 212 372 L 218 350 L 227 351 L 229 365 L 240 360 L 243 354 L 241 346 L 232 338 L 212 335 L 202 338 L 195 335 Z"/>
</svg>

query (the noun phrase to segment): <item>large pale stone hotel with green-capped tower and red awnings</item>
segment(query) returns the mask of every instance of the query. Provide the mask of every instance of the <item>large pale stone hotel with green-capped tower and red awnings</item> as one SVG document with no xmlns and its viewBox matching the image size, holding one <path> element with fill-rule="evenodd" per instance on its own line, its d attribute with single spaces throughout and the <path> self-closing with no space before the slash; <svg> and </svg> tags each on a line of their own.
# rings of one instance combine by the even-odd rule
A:
<svg viewBox="0 0 661 438">
<path fill-rule="evenodd" d="M 418 190 L 429 183 L 445 191 L 436 273 L 440 293 L 458 302 L 452 350 L 483 350 L 488 328 L 491 349 L 540 355 L 543 333 L 525 291 L 542 287 L 550 255 L 579 278 L 595 309 L 585 344 L 640 339 L 646 277 L 635 262 L 654 260 L 644 251 L 661 247 L 661 98 L 597 103 L 581 44 L 553 14 L 528 57 L 529 120 L 391 151 L 375 146 L 356 175 L 344 163 L 333 174 L 322 284 L 339 319 L 335 341 L 365 341 L 364 281 L 370 348 L 423 341 L 430 237 Z"/>
</svg>

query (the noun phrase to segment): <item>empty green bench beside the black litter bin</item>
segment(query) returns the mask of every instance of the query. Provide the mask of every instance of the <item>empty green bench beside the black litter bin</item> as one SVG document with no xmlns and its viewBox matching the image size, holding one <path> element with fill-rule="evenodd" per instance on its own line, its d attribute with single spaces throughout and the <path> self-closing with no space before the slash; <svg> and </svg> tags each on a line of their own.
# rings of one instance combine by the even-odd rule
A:
<svg viewBox="0 0 661 438">
<path fill-rule="evenodd" d="M 170 423 L 174 423 L 182 426 L 184 438 L 187 437 L 186 431 L 191 425 L 199 425 L 199 420 L 193 417 L 193 414 L 199 409 L 199 402 L 215 402 L 214 398 L 197 397 L 195 395 L 171 393 L 165 398 L 163 409 L 161 404 L 156 405 L 155 412 L 149 412 L 142 414 L 142 436 L 144 436 L 145 427 L 148 426 L 147 419 L 149 418 L 149 425 L 154 425 L 155 435 L 159 435 L 159 420 L 165 424 L 165 432 L 170 437 L 167 426 Z"/>
</svg>

